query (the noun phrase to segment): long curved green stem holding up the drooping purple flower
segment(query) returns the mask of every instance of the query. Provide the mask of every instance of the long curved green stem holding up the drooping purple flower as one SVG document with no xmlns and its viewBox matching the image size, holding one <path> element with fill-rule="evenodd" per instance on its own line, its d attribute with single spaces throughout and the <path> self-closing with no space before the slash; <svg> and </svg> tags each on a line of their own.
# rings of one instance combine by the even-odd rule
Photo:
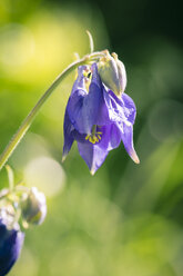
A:
<svg viewBox="0 0 183 276">
<path fill-rule="evenodd" d="M 77 67 L 81 65 L 88 65 L 91 61 L 98 60 L 100 58 L 101 53 L 100 52 L 93 52 L 91 55 L 88 55 L 83 57 L 80 60 L 77 60 L 75 62 L 72 62 L 53 81 L 53 83 L 49 87 L 49 89 L 43 93 L 43 96 L 39 99 L 37 105 L 33 107 L 33 109 L 30 111 L 28 117 L 22 121 L 20 128 L 16 132 L 16 135 L 12 137 L 6 149 L 0 156 L 0 169 L 4 166 L 9 157 L 12 155 L 13 150 L 17 148 L 18 144 L 21 141 L 28 129 L 30 128 L 33 119 L 40 111 L 41 107 L 44 105 L 47 99 L 52 95 L 54 89 L 60 85 L 60 82 L 71 72 L 73 71 Z"/>
</svg>

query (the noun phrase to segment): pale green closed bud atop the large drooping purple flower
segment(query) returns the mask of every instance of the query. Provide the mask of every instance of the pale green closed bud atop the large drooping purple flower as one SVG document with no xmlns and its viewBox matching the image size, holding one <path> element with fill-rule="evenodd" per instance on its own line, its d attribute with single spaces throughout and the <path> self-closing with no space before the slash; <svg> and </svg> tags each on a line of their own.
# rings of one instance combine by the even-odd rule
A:
<svg viewBox="0 0 183 276">
<path fill-rule="evenodd" d="M 110 88 L 118 97 L 121 97 L 126 87 L 126 72 L 124 65 L 118 59 L 116 53 L 104 51 L 98 63 L 98 71 L 102 82 Z"/>
</svg>

